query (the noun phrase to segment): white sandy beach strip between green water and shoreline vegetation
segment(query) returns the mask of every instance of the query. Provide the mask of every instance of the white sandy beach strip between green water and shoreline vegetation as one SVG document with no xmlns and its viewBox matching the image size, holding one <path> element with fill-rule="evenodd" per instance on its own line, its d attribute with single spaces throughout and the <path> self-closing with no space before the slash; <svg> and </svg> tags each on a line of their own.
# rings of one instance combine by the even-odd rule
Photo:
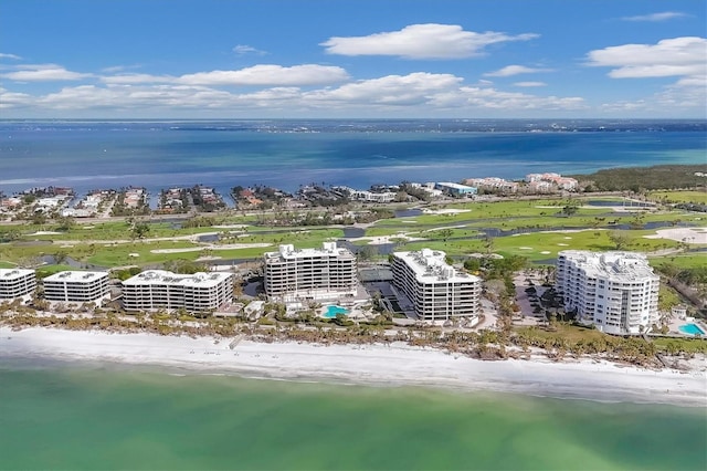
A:
<svg viewBox="0 0 707 471">
<path fill-rule="evenodd" d="M 689 373 L 606 362 L 483 362 L 402 344 L 320 346 L 154 334 L 0 327 L 0 360 L 92 360 L 246 377 L 431 386 L 605 401 L 707 407 L 705 366 Z M 704 360 L 703 360 L 704 362 Z"/>
</svg>

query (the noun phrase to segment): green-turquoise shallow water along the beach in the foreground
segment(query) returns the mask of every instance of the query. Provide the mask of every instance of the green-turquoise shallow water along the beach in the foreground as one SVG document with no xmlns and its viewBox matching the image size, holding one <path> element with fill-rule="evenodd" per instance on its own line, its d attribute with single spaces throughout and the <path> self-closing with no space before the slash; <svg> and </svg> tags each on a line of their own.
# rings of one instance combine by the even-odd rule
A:
<svg viewBox="0 0 707 471">
<path fill-rule="evenodd" d="M 0 469 L 703 470 L 705 409 L 0 359 Z"/>
</svg>

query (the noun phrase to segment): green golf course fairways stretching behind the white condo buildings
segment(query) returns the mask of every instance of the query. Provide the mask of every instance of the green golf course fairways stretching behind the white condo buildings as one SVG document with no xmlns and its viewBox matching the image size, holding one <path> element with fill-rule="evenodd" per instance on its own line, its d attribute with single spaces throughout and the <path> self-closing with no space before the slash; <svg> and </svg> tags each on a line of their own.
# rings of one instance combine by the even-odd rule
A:
<svg viewBox="0 0 707 471">
<path fill-rule="evenodd" d="M 693 198 L 685 192 L 685 198 Z M 672 195 L 672 193 L 671 193 Z M 677 193 L 679 195 L 679 193 Z M 583 206 L 588 199 L 539 199 L 506 200 L 498 202 L 466 201 L 447 206 L 431 207 L 433 210 L 453 209 L 465 212 L 423 213 L 401 219 L 384 219 L 366 230 L 368 237 L 391 236 L 397 250 L 419 250 L 431 248 L 443 250 L 453 257 L 488 251 L 502 255 L 523 255 L 534 262 L 547 263 L 557 257 L 557 252 L 566 249 L 578 250 L 613 250 L 616 248 L 611 236 L 621 233 L 626 237 L 626 250 L 655 252 L 677 249 L 680 243 L 665 239 L 645 239 L 654 234 L 653 230 L 642 229 L 645 223 L 663 222 L 676 224 L 690 222 L 707 224 L 707 217 L 698 213 L 666 210 L 631 214 L 614 212 L 611 208 L 588 208 Z M 614 199 L 612 199 L 614 200 Z M 570 216 L 561 214 L 567 206 L 577 206 Z M 215 216 L 218 226 L 247 224 L 254 222 L 256 216 Z M 619 224 L 632 228 L 616 232 Z M 281 243 L 293 243 L 297 248 L 320 247 L 321 242 L 335 240 L 344 236 L 341 228 L 336 227 L 297 227 L 272 228 L 267 226 L 247 226 L 245 228 L 203 227 L 180 229 L 169 222 L 149 224 L 144 240 L 130 239 L 130 224 L 125 221 L 102 222 L 95 224 L 76 223 L 68 230 L 53 234 L 36 234 L 38 231 L 56 231 L 59 223 L 42 226 L 0 226 L 0 231 L 19 231 L 19 240 L 0 244 L 0 266 L 34 266 L 42 255 L 66 255 L 82 262 L 99 266 L 113 268 L 122 265 L 158 265 L 169 260 L 197 260 L 201 257 L 221 259 L 252 259 L 264 252 L 275 250 Z M 572 228 L 589 228 L 580 231 Z M 559 230 L 558 230 L 559 229 Z M 484 240 L 484 231 L 499 230 L 505 236 L 493 234 Z M 242 248 L 228 250 L 209 250 L 207 244 L 199 243 L 192 236 L 215 232 L 231 232 L 222 243 L 229 244 L 267 244 L 262 248 Z M 395 239 L 400 233 L 424 238 L 422 241 L 405 242 Z M 158 240 L 160 238 L 181 238 L 180 240 Z M 113 243 L 112 241 L 123 241 Z M 217 243 L 217 248 L 219 247 Z M 366 244 L 360 241 L 357 244 Z M 154 253 L 160 249 L 198 249 L 181 253 Z M 652 259 L 654 265 L 669 260 L 678 266 L 699 266 L 699 257 L 690 254 L 669 254 Z"/>
</svg>

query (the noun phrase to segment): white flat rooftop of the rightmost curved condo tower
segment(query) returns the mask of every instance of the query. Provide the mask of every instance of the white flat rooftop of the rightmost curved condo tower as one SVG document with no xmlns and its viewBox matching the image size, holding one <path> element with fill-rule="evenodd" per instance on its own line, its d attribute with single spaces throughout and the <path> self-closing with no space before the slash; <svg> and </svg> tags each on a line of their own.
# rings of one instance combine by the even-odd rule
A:
<svg viewBox="0 0 707 471">
<path fill-rule="evenodd" d="M 563 250 L 558 253 L 558 257 L 573 261 L 589 276 L 603 275 L 624 282 L 643 278 L 658 278 L 643 253 Z"/>
</svg>

